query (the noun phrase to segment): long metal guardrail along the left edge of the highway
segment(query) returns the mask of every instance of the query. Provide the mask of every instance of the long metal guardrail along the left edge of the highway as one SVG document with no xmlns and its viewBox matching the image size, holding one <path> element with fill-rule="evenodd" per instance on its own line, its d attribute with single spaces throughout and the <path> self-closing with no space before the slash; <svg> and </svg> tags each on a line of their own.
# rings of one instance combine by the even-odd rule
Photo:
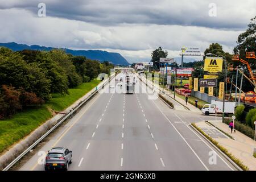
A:
<svg viewBox="0 0 256 182">
<path fill-rule="evenodd" d="M 34 148 L 38 143 L 40 143 L 44 138 L 46 138 L 53 130 L 55 130 L 59 125 L 61 125 L 61 123 L 63 123 L 70 115 L 72 115 L 73 113 L 75 113 L 75 111 L 77 109 L 79 109 L 82 105 L 85 104 L 85 102 L 87 102 L 92 96 L 94 96 L 94 94 L 96 94 L 98 92 L 98 90 L 100 90 L 102 88 L 102 86 L 105 86 L 106 84 L 109 83 L 110 80 L 112 80 L 113 76 L 110 76 L 108 81 L 106 81 L 105 84 L 102 84 L 100 86 L 100 88 L 97 88 L 92 94 L 90 94 L 90 96 L 88 96 L 84 101 L 81 102 L 81 104 L 79 104 L 78 106 L 76 106 L 75 109 L 73 109 L 71 112 L 69 112 L 67 115 L 65 115 L 65 117 L 63 119 L 61 119 L 59 122 L 57 122 L 57 124 L 55 126 L 53 126 L 50 130 L 47 131 L 47 133 L 45 133 L 42 137 L 40 137 L 38 140 L 36 140 L 33 144 L 31 144 L 31 146 L 29 146 L 26 150 L 24 150 L 22 152 L 22 154 L 20 154 L 17 158 L 15 158 L 10 164 L 8 164 L 2 171 L 8 171 L 11 167 L 14 166 L 14 164 L 16 162 L 18 162 L 21 158 L 23 158 L 24 155 L 26 155 L 32 148 Z"/>
</svg>

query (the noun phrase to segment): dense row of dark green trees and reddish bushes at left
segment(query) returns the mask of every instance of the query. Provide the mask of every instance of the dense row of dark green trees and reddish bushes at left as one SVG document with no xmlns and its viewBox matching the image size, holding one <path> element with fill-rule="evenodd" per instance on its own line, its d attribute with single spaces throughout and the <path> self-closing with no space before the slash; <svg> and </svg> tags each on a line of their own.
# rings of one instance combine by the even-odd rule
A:
<svg viewBox="0 0 256 182">
<path fill-rule="evenodd" d="M 73 56 L 62 49 L 51 51 L 11 51 L 0 48 L 0 118 L 18 110 L 42 105 L 52 93 L 68 94 L 100 73 L 110 73 L 114 65 Z"/>
</svg>

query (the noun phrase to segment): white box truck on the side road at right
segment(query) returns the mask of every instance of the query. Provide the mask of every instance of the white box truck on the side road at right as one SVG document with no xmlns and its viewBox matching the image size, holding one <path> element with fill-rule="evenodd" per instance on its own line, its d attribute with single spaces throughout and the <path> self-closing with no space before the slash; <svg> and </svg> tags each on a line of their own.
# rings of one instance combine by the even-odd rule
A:
<svg viewBox="0 0 256 182">
<path fill-rule="evenodd" d="M 225 101 L 225 113 L 233 113 L 236 107 L 236 102 Z M 205 104 L 201 109 L 202 113 L 205 115 L 222 113 L 223 111 L 223 101 L 212 101 L 211 104 Z"/>
</svg>

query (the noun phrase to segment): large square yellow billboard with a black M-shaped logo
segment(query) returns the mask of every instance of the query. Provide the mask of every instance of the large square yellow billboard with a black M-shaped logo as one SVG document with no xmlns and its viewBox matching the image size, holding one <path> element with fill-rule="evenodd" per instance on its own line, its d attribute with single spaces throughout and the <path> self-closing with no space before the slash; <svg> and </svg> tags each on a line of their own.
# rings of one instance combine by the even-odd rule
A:
<svg viewBox="0 0 256 182">
<path fill-rule="evenodd" d="M 204 71 L 217 73 L 222 71 L 222 57 L 206 57 L 204 60 Z"/>
</svg>

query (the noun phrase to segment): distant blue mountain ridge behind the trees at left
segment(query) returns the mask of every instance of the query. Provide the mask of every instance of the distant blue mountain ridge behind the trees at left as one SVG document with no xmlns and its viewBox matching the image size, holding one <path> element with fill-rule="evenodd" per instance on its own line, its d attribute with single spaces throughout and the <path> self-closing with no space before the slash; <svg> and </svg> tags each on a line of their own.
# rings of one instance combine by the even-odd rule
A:
<svg viewBox="0 0 256 182">
<path fill-rule="evenodd" d="M 38 50 L 38 51 L 51 51 L 51 49 L 55 49 L 54 47 L 45 47 L 45 46 L 38 46 L 32 45 L 28 46 L 26 44 L 17 44 L 15 42 L 10 43 L 0 43 L 0 46 L 7 47 L 13 51 L 22 51 L 24 49 L 30 50 Z M 107 51 L 100 51 L 100 50 L 73 50 L 62 48 L 65 52 L 70 53 L 73 56 L 85 56 L 91 60 L 98 60 L 98 61 L 109 61 L 115 65 L 129 65 L 128 61 L 119 53 L 116 52 L 107 52 Z"/>
</svg>

